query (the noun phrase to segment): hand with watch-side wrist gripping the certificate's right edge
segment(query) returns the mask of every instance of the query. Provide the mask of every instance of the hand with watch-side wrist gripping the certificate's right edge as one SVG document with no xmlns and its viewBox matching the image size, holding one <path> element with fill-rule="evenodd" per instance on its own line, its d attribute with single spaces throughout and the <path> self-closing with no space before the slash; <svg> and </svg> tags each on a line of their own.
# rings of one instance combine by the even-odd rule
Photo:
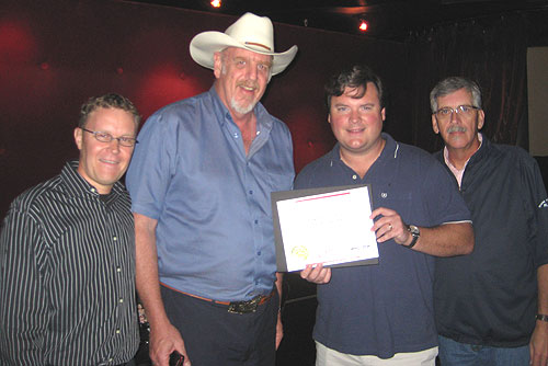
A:
<svg viewBox="0 0 548 366">
<path fill-rule="evenodd" d="M 378 242 L 393 239 L 398 244 L 411 243 L 412 236 L 397 211 L 379 207 L 372 213 L 369 218 L 375 219 L 378 216 L 380 216 L 380 218 L 375 221 L 372 228 L 372 231 L 376 232 Z"/>
</svg>

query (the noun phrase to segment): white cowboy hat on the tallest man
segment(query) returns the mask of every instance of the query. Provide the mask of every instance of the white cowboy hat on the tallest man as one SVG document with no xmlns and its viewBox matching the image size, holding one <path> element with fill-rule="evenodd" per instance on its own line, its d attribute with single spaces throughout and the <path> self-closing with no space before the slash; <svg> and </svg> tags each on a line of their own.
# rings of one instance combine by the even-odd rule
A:
<svg viewBox="0 0 548 366">
<path fill-rule="evenodd" d="M 262 55 L 271 55 L 272 75 L 279 73 L 292 62 L 297 54 L 297 46 L 285 53 L 274 52 L 274 27 L 266 16 L 246 13 L 230 25 L 225 33 L 202 32 L 191 41 L 191 56 L 197 64 L 208 69 L 214 68 L 213 55 L 227 47 L 238 47 Z"/>
</svg>

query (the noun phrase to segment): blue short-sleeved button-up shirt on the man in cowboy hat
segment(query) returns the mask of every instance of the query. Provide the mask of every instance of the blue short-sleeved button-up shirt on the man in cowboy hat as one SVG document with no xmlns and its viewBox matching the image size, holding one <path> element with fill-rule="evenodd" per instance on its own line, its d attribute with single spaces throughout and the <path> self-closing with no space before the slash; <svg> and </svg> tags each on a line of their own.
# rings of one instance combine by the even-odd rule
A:
<svg viewBox="0 0 548 366">
<path fill-rule="evenodd" d="M 155 113 L 127 172 L 132 209 L 158 220 L 160 281 L 216 300 L 272 290 L 276 259 L 270 194 L 290 190 L 289 130 L 258 103 L 246 155 L 240 129 L 212 88 Z"/>
</svg>

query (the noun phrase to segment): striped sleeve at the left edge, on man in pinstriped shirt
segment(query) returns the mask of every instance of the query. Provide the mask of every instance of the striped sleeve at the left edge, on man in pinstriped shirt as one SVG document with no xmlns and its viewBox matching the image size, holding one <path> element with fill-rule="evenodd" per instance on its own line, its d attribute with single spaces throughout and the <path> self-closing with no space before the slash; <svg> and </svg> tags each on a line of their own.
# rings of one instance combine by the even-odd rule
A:
<svg viewBox="0 0 548 366">
<path fill-rule="evenodd" d="M 38 224 L 10 210 L 0 233 L 0 363 L 45 365 L 47 289 L 36 252 Z"/>
</svg>

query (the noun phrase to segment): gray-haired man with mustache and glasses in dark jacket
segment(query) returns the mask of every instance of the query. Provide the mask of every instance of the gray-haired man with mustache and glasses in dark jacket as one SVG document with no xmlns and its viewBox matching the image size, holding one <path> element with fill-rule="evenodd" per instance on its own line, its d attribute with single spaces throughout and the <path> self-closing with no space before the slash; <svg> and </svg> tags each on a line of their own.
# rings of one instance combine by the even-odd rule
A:
<svg viewBox="0 0 548 366">
<path fill-rule="evenodd" d="M 492 144 L 481 92 L 447 78 L 430 94 L 436 157 L 472 215 L 470 255 L 436 259 L 434 299 L 443 366 L 545 366 L 548 358 L 548 202 L 536 161 Z"/>
</svg>

